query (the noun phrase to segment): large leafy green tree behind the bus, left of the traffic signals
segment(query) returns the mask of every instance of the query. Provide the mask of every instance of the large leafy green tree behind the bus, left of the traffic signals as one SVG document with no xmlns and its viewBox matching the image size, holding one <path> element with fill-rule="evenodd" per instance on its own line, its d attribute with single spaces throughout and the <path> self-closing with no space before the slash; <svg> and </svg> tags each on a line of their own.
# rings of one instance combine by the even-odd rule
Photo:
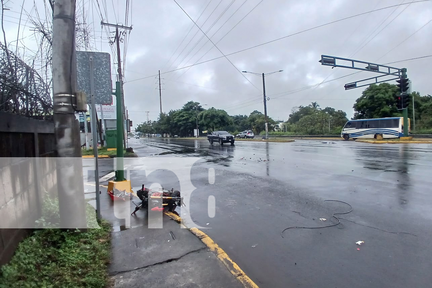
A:
<svg viewBox="0 0 432 288">
<path fill-rule="evenodd" d="M 355 111 L 353 119 L 402 116 L 396 106 L 397 94 L 399 94 L 399 88 L 396 85 L 385 82 L 370 85 L 356 100 L 353 106 Z"/>
</svg>

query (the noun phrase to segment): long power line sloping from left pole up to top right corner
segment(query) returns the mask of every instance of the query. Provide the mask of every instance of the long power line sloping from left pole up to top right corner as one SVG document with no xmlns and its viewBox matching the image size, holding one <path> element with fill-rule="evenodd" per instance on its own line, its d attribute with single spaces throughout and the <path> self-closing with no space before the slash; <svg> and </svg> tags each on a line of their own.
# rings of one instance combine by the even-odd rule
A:
<svg viewBox="0 0 432 288">
<path fill-rule="evenodd" d="M 343 20 L 346 20 L 346 19 L 350 19 L 350 18 L 353 18 L 353 17 L 365 15 L 367 13 L 376 12 L 376 11 L 380 11 L 380 10 L 383 10 L 383 9 L 388 9 L 388 8 L 392 8 L 392 7 L 395 7 L 395 6 L 407 5 L 407 4 L 412 4 L 412 3 L 420 3 L 420 2 L 426 2 L 426 1 L 431 1 L 431 0 L 418 0 L 418 1 L 410 2 L 410 3 L 402 3 L 402 4 L 397 4 L 397 5 L 392 5 L 392 6 L 387 6 L 387 7 L 371 10 L 371 11 L 364 12 L 364 13 L 359 13 L 359 14 L 356 14 L 356 15 L 353 15 L 353 16 L 345 17 L 345 18 L 342 18 L 342 19 L 339 19 L 339 20 L 334 20 L 332 22 L 327 22 L 325 24 L 321 24 L 321 25 L 318 25 L 318 26 L 314 26 L 312 28 L 308 28 L 308 29 L 305 29 L 305 30 L 302 30 L 302 31 L 299 31 L 299 32 L 295 32 L 293 34 L 290 34 L 290 35 L 287 35 L 287 36 L 284 36 L 284 37 L 281 37 L 281 38 L 277 38 L 277 39 L 274 39 L 274 40 L 271 40 L 271 41 L 267 41 L 267 42 L 264 42 L 262 44 L 258 44 L 258 45 L 255 45 L 255 46 L 252 46 L 252 47 L 249 47 L 249 48 L 245 48 L 245 49 L 242 49 L 242 50 L 239 50 L 239 51 L 236 51 L 236 52 L 232 52 L 232 53 L 226 54 L 224 56 L 219 56 L 219 57 L 216 57 L 216 58 L 213 58 L 213 59 L 209 59 L 209 60 L 205 60 L 205 61 L 202 61 L 202 62 L 199 62 L 199 63 L 195 63 L 193 65 L 188 65 L 188 66 L 184 66 L 184 67 L 181 67 L 181 68 L 173 69 L 173 70 L 170 70 L 170 71 L 167 71 L 167 72 L 163 72 L 161 74 L 171 73 L 171 72 L 174 72 L 174 71 L 178 71 L 178 70 L 186 69 L 186 68 L 189 68 L 189 67 L 192 67 L 192 66 L 195 66 L 195 65 L 207 63 L 207 62 L 210 62 L 210 61 L 213 61 L 213 60 L 217 60 L 217 59 L 220 59 L 220 58 L 223 58 L 223 57 L 227 57 L 227 56 L 230 56 L 230 55 L 238 54 L 238 53 L 241 53 L 241 52 L 244 52 L 244 51 L 248 51 L 248 50 L 256 48 L 256 47 L 263 46 L 265 44 L 269 44 L 269 43 L 272 43 L 272 42 L 275 42 L 275 41 L 279 41 L 279 40 L 284 39 L 284 38 L 288 38 L 288 37 L 293 36 L 293 35 L 297 35 L 297 34 L 300 34 L 300 33 L 303 33 L 303 32 L 307 32 L 307 31 L 310 31 L 310 30 L 313 30 L 313 29 L 316 29 L 316 28 L 327 26 L 327 25 L 330 25 L 330 24 L 333 24 L 333 23 L 336 23 L 336 22 L 340 22 L 340 21 L 343 21 Z M 143 78 L 138 78 L 138 79 L 130 80 L 128 82 L 142 80 L 142 79 L 146 79 L 146 78 L 150 78 L 150 77 L 154 77 L 154 76 L 157 76 L 157 74 L 151 75 L 151 76 L 146 76 L 146 77 L 143 77 Z"/>
</svg>

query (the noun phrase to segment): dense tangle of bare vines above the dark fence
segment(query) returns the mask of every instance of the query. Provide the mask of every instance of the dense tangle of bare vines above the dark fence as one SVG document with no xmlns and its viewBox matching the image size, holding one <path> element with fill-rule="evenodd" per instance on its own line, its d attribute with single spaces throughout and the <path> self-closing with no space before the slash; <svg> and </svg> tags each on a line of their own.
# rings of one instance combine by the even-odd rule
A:
<svg viewBox="0 0 432 288">
<path fill-rule="evenodd" d="M 0 111 L 40 120 L 52 119 L 51 81 L 0 43 Z"/>
</svg>

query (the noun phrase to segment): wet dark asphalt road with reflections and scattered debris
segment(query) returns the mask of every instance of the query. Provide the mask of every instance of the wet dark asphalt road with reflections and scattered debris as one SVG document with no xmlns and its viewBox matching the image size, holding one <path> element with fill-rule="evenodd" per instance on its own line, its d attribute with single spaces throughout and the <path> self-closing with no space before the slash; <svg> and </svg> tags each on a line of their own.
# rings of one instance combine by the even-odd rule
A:
<svg viewBox="0 0 432 288">
<path fill-rule="evenodd" d="M 201 158 L 191 167 L 196 189 L 181 212 L 190 213 L 188 226 L 211 228 L 205 232 L 261 288 L 432 283 L 432 145 L 131 139 L 130 146 L 140 157 Z M 181 190 L 170 175 L 132 171 L 130 179 L 134 187 L 156 182 Z M 213 218 L 209 196 L 216 199 Z M 332 215 L 350 210 L 327 199 L 353 211 L 336 215 L 343 218 L 337 226 L 290 228 L 281 237 L 287 227 L 337 223 Z"/>
</svg>

